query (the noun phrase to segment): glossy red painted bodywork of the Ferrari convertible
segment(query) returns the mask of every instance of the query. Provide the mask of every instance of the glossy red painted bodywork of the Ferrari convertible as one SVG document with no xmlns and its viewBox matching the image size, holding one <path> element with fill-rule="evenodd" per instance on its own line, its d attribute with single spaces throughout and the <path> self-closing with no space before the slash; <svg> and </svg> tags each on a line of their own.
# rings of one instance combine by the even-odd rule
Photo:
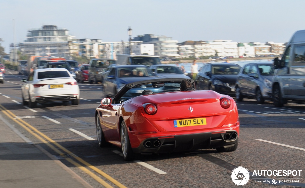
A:
<svg viewBox="0 0 305 188">
<path fill-rule="evenodd" d="M 221 98 L 230 100 L 229 108 L 221 107 Z M 153 115 L 147 114 L 143 107 L 146 103 L 156 105 L 157 112 Z M 192 112 L 189 107 L 192 108 Z M 166 145 L 166 140 L 178 136 L 198 137 L 199 134 L 206 133 L 221 138 L 223 133 L 228 132 L 234 132 L 237 137 L 239 136 L 239 118 L 235 101 L 228 95 L 211 90 L 141 95 L 123 104 L 99 105 L 96 112 L 99 114 L 106 141 L 121 146 L 119 130 L 124 120 L 128 127 L 131 147 L 138 152 L 141 152 L 143 142 L 150 138 L 159 139 L 161 144 Z M 174 127 L 174 120 L 196 118 L 205 118 L 206 125 Z M 212 141 L 220 142 L 218 138 L 215 140 Z"/>
</svg>

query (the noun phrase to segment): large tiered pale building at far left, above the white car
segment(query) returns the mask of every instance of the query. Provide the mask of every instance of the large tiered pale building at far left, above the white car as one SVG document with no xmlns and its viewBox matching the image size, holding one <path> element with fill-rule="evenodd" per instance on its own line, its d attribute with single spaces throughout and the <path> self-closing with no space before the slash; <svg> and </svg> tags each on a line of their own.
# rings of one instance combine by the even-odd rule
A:
<svg viewBox="0 0 305 188">
<path fill-rule="evenodd" d="M 29 29 L 27 39 L 20 43 L 25 55 L 51 55 L 68 58 L 79 54 L 79 44 L 69 30 L 55 25 Z"/>
</svg>

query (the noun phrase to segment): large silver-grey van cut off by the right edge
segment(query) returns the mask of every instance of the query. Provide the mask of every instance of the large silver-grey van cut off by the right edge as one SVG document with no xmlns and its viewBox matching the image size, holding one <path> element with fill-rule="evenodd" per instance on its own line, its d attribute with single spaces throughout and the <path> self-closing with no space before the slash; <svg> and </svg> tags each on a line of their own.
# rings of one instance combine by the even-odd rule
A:
<svg viewBox="0 0 305 188">
<path fill-rule="evenodd" d="M 282 59 L 274 58 L 273 102 L 282 107 L 287 100 L 305 102 L 305 30 L 292 35 Z"/>
</svg>

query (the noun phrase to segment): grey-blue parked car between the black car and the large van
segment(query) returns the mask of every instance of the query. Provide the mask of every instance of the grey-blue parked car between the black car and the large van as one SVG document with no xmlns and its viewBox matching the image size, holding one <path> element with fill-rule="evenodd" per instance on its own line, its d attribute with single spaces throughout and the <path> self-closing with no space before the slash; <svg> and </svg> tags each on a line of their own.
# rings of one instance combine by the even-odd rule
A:
<svg viewBox="0 0 305 188">
<path fill-rule="evenodd" d="M 274 76 L 272 62 L 246 64 L 236 78 L 235 96 L 237 101 L 244 97 L 255 97 L 258 104 L 272 100 L 272 77 Z"/>
</svg>

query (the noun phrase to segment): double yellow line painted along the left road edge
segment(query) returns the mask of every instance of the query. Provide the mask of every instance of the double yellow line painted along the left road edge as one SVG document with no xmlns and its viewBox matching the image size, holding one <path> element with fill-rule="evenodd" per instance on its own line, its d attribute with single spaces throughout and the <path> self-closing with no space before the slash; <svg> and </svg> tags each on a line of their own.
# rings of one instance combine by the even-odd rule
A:
<svg viewBox="0 0 305 188">
<path fill-rule="evenodd" d="M 96 181 L 98 181 L 100 184 L 102 184 L 104 187 L 107 188 L 112 188 L 111 185 L 109 185 L 107 182 L 105 182 L 103 179 L 101 179 L 99 176 L 95 175 L 93 172 L 91 172 L 90 170 L 88 170 L 86 167 L 91 168 L 93 171 L 97 172 L 98 174 L 102 175 L 103 177 L 105 177 L 106 179 L 108 179 L 110 182 L 112 182 L 114 185 L 120 187 L 120 188 L 126 188 L 126 186 L 124 186 L 123 184 L 121 184 L 120 182 L 118 182 L 117 180 L 113 179 L 112 177 L 110 177 L 108 174 L 106 174 L 105 172 L 103 172 L 102 170 L 96 168 L 95 166 L 89 164 L 88 162 L 84 161 L 82 158 L 77 157 L 75 154 L 73 154 L 71 151 L 67 150 L 66 148 L 64 148 L 63 146 L 61 146 L 60 144 L 58 144 L 57 142 L 55 142 L 54 140 L 52 140 L 51 138 L 47 137 L 45 134 L 41 133 L 39 130 L 37 130 L 35 127 L 31 126 L 30 124 L 28 124 L 27 122 L 23 121 L 22 119 L 14 119 L 16 117 L 15 114 L 13 114 L 13 112 L 7 110 L 5 107 L 3 107 L 0 104 L 0 111 L 2 111 L 5 115 L 7 115 L 10 119 L 12 119 L 13 121 L 15 121 L 18 125 L 20 125 L 21 127 L 23 127 L 25 130 L 27 130 L 29 133 L 31 133 L 32 135 L 34 135 L 36 138 L 38 138 L 42 143 L 46 144 L 48 147 L 50 147 L 53 151 L 55 151 L 57 154 L 59 154 L 60 156 L 63 156 L 64 159 L 66 159 L 67 161 L 69 161 L 71 164 L 75 165 L 76 167 L 80 168 L 82 171 L 84 171 L 85 173 L 87 173 L 89 176 L 91 176 L 93 179 L 95 179 Z M 60 148 L 63 152 L 61 152 L 59 149 Z M 71 158 L 65 158 L 64 156 L 66 155 L 70 155 L 73 157 L 73 159 Z M 76 161 L 75 161 L 76 160 Z M 79 163 L 78 163 L 78 162 Z M 81 164 L 82 165 L 81 165 Z"/>
</svg>

